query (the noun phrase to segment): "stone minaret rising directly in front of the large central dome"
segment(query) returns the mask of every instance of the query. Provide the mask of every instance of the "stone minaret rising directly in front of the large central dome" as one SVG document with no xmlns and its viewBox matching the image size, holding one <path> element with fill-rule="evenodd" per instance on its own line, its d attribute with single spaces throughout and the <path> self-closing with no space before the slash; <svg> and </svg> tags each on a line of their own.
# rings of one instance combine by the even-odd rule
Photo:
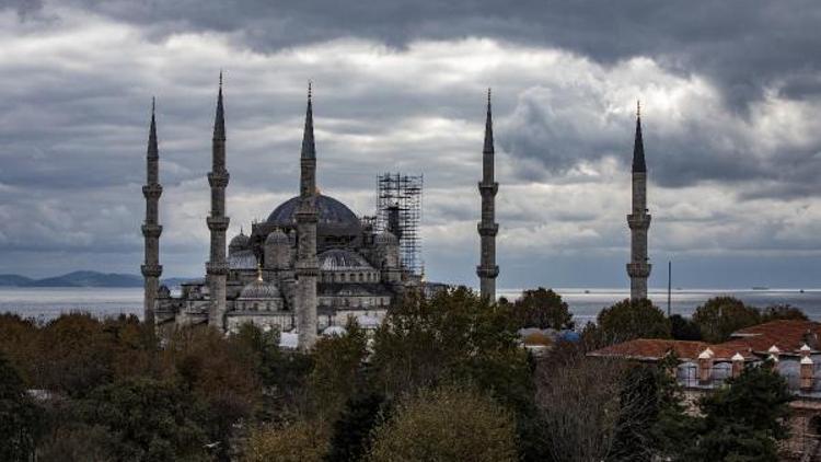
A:
<svg viewBox="0 0 821 462">
<path fill-rule="evenodd" d="M 316 147 L 313 141 L 313 105 L 311 83 L 308 84 L 305 129 L 300 155 L 300 203 L 297 209 L 297 333 L 299 348 L 309 350 L 316 342 Z"/>
</svg>

